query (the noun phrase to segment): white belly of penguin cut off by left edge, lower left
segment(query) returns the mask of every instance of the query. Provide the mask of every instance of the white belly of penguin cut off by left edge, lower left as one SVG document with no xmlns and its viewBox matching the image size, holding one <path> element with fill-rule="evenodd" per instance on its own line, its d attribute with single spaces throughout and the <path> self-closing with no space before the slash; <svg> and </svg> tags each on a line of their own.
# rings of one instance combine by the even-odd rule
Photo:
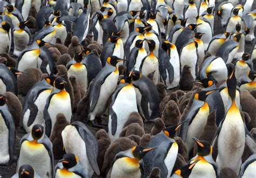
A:
<svg viewBox="0 0 256 178">
<path fill-rule="evenodd" d="M 5 120 L 0 113 L 0 164 L 8 163 L 9 155 L 9 129 L 5 124 Z"/>
</svg>

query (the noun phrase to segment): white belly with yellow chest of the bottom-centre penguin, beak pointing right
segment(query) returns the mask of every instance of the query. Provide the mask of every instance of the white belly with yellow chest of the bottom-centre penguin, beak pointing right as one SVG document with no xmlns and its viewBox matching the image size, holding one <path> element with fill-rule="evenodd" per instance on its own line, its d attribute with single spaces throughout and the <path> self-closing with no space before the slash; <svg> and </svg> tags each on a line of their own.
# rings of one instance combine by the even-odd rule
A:
<svg viewBox="0 0 256 178">
<path fill-rule="evenodd" d="M 141 176 L 139 163 L 132 162 L 126 157 L 117 159 L 110 173 L 111 178 L 140 178 Z"/>
</svg>

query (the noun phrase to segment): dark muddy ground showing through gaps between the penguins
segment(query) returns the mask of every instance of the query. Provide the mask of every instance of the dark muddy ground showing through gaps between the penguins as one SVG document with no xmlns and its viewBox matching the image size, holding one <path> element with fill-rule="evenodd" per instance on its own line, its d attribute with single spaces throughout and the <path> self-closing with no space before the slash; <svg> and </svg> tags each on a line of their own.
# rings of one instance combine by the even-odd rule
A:
<svg viewBox="0 0 256 178">
<path fill-rule="evenodd" d="M 216 5 L 217 6 L 217 5 Z M 254 1 L 253 3 L 253 8 L 256 8 L 256 1 Z M 222 27 L 220 25 L 220 19 L 218 19 L 217 17 L 215 17 L 215 21 L 214 21 L 214 35 L 215 34 L 220 34 L 220 33 L 224 33 L 224 27 Z M 254 34 L 256 35 L 256 31 L 254 31 Z M 252 46 L 252 42 L 250 43 L 246 43 L 245 44 L 245 52 L 250 52 Z M 177 89 L 174 89 L 178 90 Z M 172 90 L 173 91 L 173 90 Z M 167 91 L 167 92 L 172 92 L 172 91 Z M 20 101 L 23 103 L 24 97 L 19 95 L 19 99 Z M 76 113 L 73 113 L 73 120 L 81 120 L 82 118 L 79 118 Z M 108 115 L 107 112 L 103 115 L 103 123 L 107 124 L 108 122 Z M 96 132 L 99 130 L 98 128 L 92 127 L 91 123 L 86 123 L 86 126 L 91 130 L 91 132 L 93 134 L 96 134 Z M 152 123 L 145 123 L 144 124 L 144 129 L 146 133 L 150 133 L 151 132 L 151 128 L 152 128 L 153 124 Z M 107 130 L 107 126 L 105 126 L 104 128 L 105 130 Z M 18 157 L 18 153 L 19 153 L 19 140 L 21 140 L 21 138 L 24 136 L 26 132 L 22 129 L 22 127 L 16 127 L 16 144 L 15 144 L 15 159 L 17 159 Z M 4 178 L 8 178 L 11 177 L 12 175 L 14 175 L 16 173 L 16 162 L 14 161 L 12 163 L 10 163 L 10 165 L 7 166 L 0 166 L 0 178 L 4 177 Z M 102 177 L 102 176 L 93 176 L 93 177 Z"/>
</svg>

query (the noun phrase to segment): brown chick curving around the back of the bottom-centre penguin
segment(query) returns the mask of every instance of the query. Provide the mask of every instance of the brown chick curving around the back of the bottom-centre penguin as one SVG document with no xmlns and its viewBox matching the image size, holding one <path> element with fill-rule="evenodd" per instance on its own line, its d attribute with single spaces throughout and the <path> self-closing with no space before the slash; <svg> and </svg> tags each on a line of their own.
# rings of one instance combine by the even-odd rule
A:
<svg viewBox="0 0 256 178">
<path fill-rule="evenodd" d="M 116 156 L 117 153 L 130 149 L 133 146 L 137 146 L 136 142 L 126 137 L 120 137 L 112 141 L 104 156 L 102 173 L 107 174 L 109 167 L 114 160 L 114 156 Z"/>
</svg>

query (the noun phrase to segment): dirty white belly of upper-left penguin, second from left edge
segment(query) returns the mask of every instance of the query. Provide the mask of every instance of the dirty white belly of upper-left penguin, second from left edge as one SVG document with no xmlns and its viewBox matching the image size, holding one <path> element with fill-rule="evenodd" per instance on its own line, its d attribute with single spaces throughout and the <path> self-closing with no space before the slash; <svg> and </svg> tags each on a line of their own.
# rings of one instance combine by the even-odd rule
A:
<svg viewBox="0 0 256 178">
<path fill-rule="evenodd" d="M 24 30 L 14 31 L 14 55 L 19 56 L 19 53 L 25 49 L 25 45 L 29 43 L 29 34 Z"/>
</svg>

